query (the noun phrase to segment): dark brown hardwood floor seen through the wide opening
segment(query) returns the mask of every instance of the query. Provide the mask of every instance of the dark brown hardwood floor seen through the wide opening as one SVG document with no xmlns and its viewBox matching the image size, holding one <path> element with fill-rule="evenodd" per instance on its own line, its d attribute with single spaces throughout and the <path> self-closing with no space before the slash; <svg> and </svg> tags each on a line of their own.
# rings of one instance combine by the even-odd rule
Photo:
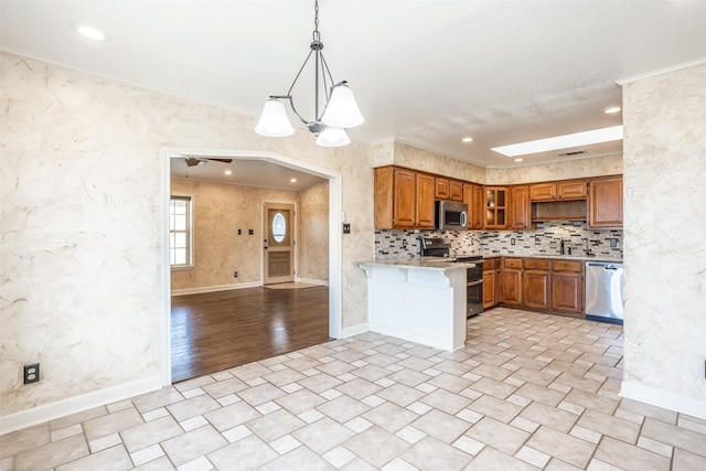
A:
<svg viewBox="0 0 706 471">
<path fill-rule="evenodd" d="M 172 297 L 172 382 L 329 340 L 329 288 L 246 288 Z"/>
</svg>

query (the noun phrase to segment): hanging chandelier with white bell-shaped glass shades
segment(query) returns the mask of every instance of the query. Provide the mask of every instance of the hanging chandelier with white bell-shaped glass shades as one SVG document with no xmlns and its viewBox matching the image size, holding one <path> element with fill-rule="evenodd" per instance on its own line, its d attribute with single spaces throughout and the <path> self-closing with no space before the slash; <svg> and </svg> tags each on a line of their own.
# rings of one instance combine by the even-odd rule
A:
<svg viewBox="0 0 706 471">
<path fill-rule="evenodd" d="M 304 60 L 301 68 L 295 77 L 287 95 L 270 95 L 265 103 L 263 115 L 255 127 L 255 132 L 260 136 L 279 138 L 290 136 L 295 132 L 287 110 L 282 101 L 289 101 L 289 106 L 295 115 L 307 128 L 317 137 L 317 144 L 322 147 L 340 147 L 351 142 L 345 128 L 354 128 L 363 124 L 364 118 L 355 103 L 353 90 L 347 82 L 333 82 L 329 65 L 323 57 L 323 43 L 319 34 L 319 1 L 314 1 L 314 29 L 313 41 L 309 45 L 309 55 Z M 295 107 L 295 99 L 291 90 L 295 88 L 301 72 L 309 60 L 313 56 L 314 62 L 314 117 L 307 120 L 301 117 Z M 320 98 L 325 97 L 325 103 L 321 104 Z"/>
</svg>

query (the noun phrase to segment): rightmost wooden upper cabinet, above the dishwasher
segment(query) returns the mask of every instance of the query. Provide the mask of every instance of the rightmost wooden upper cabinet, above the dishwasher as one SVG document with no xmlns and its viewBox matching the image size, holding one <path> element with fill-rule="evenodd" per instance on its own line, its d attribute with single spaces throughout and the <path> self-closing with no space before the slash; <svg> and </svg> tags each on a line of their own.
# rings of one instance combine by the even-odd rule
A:
<svg viewBox="0 0 706 471">
<path fill-rule="evenodd" d="M 588 227 L 622 227 L 622 175 L 589 181 Z"/>
</svg>

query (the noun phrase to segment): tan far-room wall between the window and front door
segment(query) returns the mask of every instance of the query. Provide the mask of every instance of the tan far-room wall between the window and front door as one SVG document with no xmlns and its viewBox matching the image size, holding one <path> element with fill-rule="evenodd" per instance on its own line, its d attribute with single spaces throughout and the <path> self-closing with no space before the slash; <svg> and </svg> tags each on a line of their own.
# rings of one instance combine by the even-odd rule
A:
<svg viewBox="0 0 706 471">
<path fill-rule="evenodd" d="M 172 290 L 263 281 L 263 202 L 296 204 L 297 192 L 181 179 L 171 192 L 193 197 L 194 217 L 194 267 L 172 270 Z"/>
</svg>

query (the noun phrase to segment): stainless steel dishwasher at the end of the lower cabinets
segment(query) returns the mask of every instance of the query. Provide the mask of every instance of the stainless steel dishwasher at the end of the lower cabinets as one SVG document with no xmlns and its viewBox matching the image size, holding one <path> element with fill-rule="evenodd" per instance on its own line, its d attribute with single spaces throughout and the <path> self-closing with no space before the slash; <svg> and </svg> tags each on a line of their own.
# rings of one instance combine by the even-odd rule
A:
<svg viewBox="0 0 706 471">
<path fill-rule="evenodd" d="M 586 319 L 622 325 L 622 264 L 586 263 Z"/>
</svg>

